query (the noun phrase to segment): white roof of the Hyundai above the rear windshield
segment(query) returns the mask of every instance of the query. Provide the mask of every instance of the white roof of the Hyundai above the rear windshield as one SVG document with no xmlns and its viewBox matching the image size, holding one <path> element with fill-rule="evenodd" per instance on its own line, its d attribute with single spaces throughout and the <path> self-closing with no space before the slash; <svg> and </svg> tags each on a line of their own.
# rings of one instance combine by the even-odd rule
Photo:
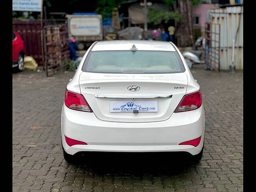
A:
<svg viewBox="0 0 256 192">
<path fill-rule="evenodd" d="M 150 40 L 112 40 L 99 41 L 92 47 L 91 51 L 106 50 L 131 50 L 135 45 L 137 50 L 154 50 L 154 51 L 175 51 L 175 48 L 166 41 L 150 41 Z"/>
</svg>

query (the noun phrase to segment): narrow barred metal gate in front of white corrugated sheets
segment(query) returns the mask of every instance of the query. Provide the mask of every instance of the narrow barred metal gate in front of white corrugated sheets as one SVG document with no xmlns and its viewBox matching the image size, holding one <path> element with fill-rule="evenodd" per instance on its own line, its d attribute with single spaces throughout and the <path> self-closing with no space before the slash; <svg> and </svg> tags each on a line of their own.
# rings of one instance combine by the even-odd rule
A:
<svg viewBox="0 0 256 192">
<path fill-rule="evenodd" d="M 220 72 L 220 24 L 205 25 L 206 68 Z"/>
</svg>

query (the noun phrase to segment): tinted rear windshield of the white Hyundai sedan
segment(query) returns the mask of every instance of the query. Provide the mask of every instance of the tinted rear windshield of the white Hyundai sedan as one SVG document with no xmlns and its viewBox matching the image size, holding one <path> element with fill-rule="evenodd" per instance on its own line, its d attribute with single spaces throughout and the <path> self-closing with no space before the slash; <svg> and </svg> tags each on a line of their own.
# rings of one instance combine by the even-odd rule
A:
<svg viewBox="0 0 256 192">
<path fill-rule="evenodd" d="M 171 51 L 91 51 L 84 72 L 94 73 L 179 73 L 184 72 L 178 52 Z"/>
</svg>

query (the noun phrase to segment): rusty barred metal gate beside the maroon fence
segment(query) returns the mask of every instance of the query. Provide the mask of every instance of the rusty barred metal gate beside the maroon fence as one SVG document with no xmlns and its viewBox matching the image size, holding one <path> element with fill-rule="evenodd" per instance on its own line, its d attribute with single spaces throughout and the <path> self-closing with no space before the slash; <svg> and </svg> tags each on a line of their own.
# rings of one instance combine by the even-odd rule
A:
<svg viewBox="0 0 256 192">
<path fill-rule="evenodd" d="M 48 25 L 44 34 L 44 68 L 46 76 L 66 67 L 70 62 L 67 24 Z"/>
</svg>

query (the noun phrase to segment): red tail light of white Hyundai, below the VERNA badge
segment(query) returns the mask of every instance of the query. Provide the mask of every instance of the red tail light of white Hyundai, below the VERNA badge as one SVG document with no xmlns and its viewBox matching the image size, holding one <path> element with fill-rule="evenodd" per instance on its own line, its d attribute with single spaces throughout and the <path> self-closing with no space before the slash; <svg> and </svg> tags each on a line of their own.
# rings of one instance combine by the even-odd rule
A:
<svg viewBox="0 0 256 192">
<path fill-rule="evenodd" d="M 65 105 L 74 110 L 92 112 L 90 106 L 84 99 L 84 96 L 78 93 L 66 90 L 65 93 Z"/>
</svg>

